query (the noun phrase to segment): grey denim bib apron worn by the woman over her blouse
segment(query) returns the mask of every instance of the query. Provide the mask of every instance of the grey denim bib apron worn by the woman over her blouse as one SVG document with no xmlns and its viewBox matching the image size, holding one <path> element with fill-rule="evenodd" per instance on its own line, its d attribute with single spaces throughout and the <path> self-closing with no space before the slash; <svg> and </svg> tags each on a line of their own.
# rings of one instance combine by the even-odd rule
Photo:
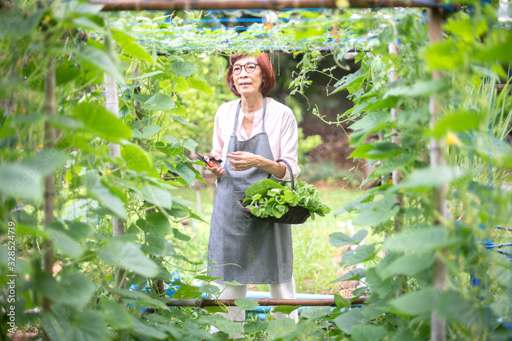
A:
<svg viewBox="0 0 512 341">
<path fill-rule="evenodd" d="M 242 101 L 237 107 L 233 132 L 227 153 L 246 151 L 274 160 L 268 136 L 265 132 L 267 99 L 263 97 L 262 132 L 247 141 L 239 141 L 235 135 Z M 292 277 L 293 248 L 291 226 L 253 220 L 237 207 L 236 200 L 256 181 L 266 179 L 268 173 L 253 167 L 244 171 L 232 170 L 226 157 L 226 175 L 218 177 L 218 188 L 211 215 L 208 242 L 209 276 L 222 276 L 222 281 L 242 284 L 277 284 L 288 282 Z"/>
</svg>

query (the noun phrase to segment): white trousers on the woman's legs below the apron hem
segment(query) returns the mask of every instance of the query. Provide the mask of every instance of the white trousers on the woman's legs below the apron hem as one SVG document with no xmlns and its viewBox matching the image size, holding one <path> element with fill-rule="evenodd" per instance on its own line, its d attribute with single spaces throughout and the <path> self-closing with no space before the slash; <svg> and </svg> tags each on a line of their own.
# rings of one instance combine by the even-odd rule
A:
<svg viewBox="0 0 512 341">
<path fill-rule="evenodd" d="M 221 294 L 219 295 L 219 300 L 230 300 L 230 299 L 245 299 L 245 295 L 247 294 L 247 285 L 225 285 L 222 283 L 217 282 L 211 282 L 210 284 L 213 284 L 217 286 L 221 290 Z M 270 298 L 272 299 L 295 299 L 295 280 L 293 279 L 293 275 L 291 277 L 291 281 L 279 283 L 279 284 L 269 284 L 268 285 L 270 289 Z M 270 307 L 270 311 L 272 311 L 274 307 Z M 226 317 L 228 321 L 244 321 L 245 320 L 245 310 L 241 310 L 239 307 L 230 307 L 229 313 L 222 313 L 219 312 L 218 314 L 223 315 Z M 274 319 L 282 319 L 283 317 L 290 317 L 291 319 L 295 320 L 295 323 L 298 322 L 298 312 L 297 310 L 293 310 L 289 315 L 284 314 L 282 312 L 271 312 L 272 316 L 274 316 Z M 243 322 L 241 322 L 243 325 Z M 217 329 L 214 326 L 211 326 L 210 329 L 211 333 L 218 332 L 219 329 Z M 233 338 L 240 338 L 243 337 L 242 334 L 233 335 L 230 337 Z"/>
</svg>

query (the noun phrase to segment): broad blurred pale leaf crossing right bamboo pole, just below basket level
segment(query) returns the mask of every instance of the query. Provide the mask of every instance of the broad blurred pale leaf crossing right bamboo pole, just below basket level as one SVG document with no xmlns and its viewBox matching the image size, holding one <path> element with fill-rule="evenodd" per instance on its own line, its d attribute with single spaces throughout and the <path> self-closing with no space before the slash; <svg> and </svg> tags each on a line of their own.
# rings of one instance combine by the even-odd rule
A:
<svg viewBox="0 0 512 341">
<path fill-rule="evenodd" d="M 451 242 L 444 226 L 416 224 L 392 235 L 382 245 L 391 252 L 427 251 L 439 249 Z"/>
</svg>

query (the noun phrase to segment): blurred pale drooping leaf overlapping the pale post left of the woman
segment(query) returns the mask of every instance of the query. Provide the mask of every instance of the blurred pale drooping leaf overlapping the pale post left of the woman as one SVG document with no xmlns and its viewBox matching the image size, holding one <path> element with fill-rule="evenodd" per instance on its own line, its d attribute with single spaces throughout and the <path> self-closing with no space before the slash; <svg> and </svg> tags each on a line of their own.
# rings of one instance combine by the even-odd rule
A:
<svg viewBox="0 0 512 341">
<path fill-rule="evenodd" d="M 86 175 L 87 193 L 93 199 L 100 201 L 103 206 L 108 208 L 116 217 L 127 219 L 124 202 L 121 198 L 106 186 L 98 176 L 93 173 Z"/>
</svg>

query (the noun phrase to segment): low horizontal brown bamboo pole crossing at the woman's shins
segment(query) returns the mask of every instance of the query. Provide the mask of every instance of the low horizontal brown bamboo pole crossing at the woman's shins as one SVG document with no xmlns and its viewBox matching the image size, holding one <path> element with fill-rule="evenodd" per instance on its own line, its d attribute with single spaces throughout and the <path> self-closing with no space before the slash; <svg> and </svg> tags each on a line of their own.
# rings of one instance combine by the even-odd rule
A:
<svg viewBox="0 0 512 341">
<path fill-rule="evenodd" d="M 353 298 L 347 298 L 350 301 Z M 364 304 L 366 298 L 359 297 L 350 305 Z M 169 307 L 218 307 L 218 306 L 234 306 L 236 300 L 206 300 L 206 299 L 191 299 L 191 300 L 169 300 L 166 305 Z M 334 299 L 319 299 L 319 300 L 288 300 L 288 299 L 251 299 L 251 301 L 258 302 L 260 306 L 328 306 L 336 307 Z"/>
</svg>

